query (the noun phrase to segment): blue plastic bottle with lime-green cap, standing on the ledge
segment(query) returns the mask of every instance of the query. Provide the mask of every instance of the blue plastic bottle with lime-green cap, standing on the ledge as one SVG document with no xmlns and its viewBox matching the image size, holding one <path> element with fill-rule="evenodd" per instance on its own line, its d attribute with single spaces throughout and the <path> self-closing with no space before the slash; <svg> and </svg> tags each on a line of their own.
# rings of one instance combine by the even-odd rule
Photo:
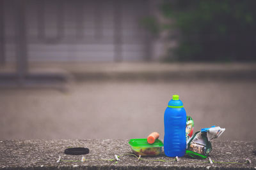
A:
<svg viewBox="0 0 256 170">
<path fill-rule="evenodd" d="M 164 112 L 164 153 L 182 157 L 186 152 L 186 111 L 178 95 L 173 95 Z"/>
</svg>

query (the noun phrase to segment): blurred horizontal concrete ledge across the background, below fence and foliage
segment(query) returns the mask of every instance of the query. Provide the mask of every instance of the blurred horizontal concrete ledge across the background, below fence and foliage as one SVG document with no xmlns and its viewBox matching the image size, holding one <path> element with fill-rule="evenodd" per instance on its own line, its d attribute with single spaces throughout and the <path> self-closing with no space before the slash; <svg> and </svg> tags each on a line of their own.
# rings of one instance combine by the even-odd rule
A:
<svg viewBox="0 0 256 170">
<path fill-rule="evenodd" d="M 74 80 L 253 80 L 256 62 L 251 63 L 160 63 L 160 62 L 35 62 L 29 71 L 58 68 L 70 73 Z M 15 65 L 0 67 L 0 73 L 15 70 Z"/>
</svg>

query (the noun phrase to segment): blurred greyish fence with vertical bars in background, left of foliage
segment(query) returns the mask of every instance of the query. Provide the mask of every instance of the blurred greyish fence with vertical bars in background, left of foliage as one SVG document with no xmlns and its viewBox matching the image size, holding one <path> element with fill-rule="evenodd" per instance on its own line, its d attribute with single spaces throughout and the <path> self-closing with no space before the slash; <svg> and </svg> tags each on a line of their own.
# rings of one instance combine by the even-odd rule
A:
<svg viewBox="0 0 256 170">
<path fill-rule="evenodd" d="M 2 0 L 0 6 L 1 63 L 19 60 L 17 53 L 28 61 L 150 60 L 150 35 L 140 27 L 148 0 Z"/>
</svg>

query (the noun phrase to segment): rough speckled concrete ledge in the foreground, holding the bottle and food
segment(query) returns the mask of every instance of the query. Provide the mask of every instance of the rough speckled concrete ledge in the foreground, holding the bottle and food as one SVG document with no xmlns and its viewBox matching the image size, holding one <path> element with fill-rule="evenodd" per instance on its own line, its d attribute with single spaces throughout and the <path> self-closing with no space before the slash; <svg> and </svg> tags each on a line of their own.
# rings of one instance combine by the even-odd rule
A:
<svg viewBox="0 0 256 170">
<path fill-rule="evenodd" d="M 26 140 L 0 141 L 0 169 L 256 169 L 256 142 L 214 141 L 212 142 L 211 159 L 215 162 L 239 162 L 241 164 L 209 164 L 205 160 L 173 158 L 164 154 L 159 157 L 145 157 L 140 160 L 132 155 L 124 155 L 120 160 L 114 155 L 131 153 L 128 140 L 124 139 L 85 139 L 85 140 Z M 83 146 L 90 149 L 84 155 L 85 162 L 56 162 L 59 155 L 65 160 L 81 160 L 80 155 L 65 155 L 67 147 Z M 164 159 L 169 162 L 152 160 Z M 243 164 L 245 159 L 251 164 Z"/>
</svg>

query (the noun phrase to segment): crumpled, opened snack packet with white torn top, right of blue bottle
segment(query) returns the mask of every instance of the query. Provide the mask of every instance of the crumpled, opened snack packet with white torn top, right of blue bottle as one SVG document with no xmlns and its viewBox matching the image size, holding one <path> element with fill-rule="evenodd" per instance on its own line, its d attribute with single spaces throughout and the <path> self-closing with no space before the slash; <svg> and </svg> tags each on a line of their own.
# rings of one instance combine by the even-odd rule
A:
<svg viewBox="0 0 256 170">
<path fill-rule="evenodd" d="M 212 150 L 211 139 L 218 138 L 223 134 L 225 128 L 212 126 L 201 129 L 196 132 L 192 138 L 187 141 L 186 155 L 193 158 L 205 159 Z"/>
</svg>

